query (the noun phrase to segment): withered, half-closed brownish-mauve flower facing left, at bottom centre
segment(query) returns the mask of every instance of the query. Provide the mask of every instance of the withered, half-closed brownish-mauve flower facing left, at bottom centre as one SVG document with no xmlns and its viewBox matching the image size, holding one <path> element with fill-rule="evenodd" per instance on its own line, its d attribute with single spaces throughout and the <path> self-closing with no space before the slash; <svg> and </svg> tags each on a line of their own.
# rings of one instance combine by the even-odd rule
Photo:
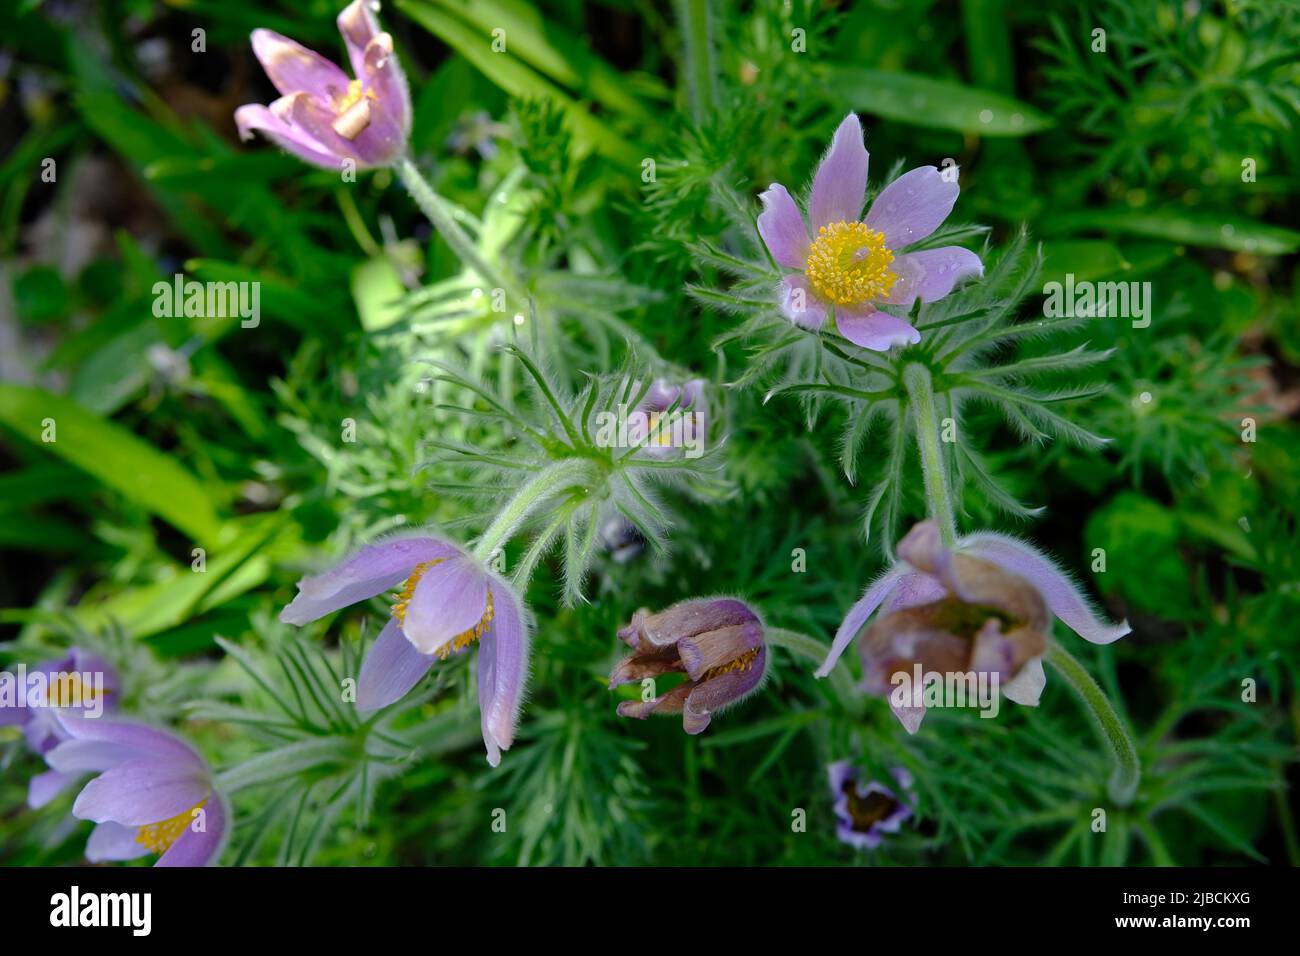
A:
<svg viewBox="0 0 1300 956">
<path fill-rule="evenodd" d="M 767 667 L 763 622 L 731 597 L 682 601 L 658 614 L 642 607 L 619 637 L 632 654 L 614 667 L 610 689 L 666 674 L 686 676 L 653 700 L 623 701 L 619 715 L 644 721 L 680 713 L 688 734 L 701 734 L 715 711 L 751 693 Z"/>
</svg>

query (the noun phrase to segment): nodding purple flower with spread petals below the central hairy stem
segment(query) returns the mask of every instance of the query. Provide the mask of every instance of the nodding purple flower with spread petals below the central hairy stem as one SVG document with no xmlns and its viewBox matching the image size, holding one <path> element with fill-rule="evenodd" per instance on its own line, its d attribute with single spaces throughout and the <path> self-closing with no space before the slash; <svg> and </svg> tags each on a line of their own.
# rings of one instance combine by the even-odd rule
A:
<svg viewBox="0 0 1300 956">
<path fill-rule="evenodd" d="M 298 583 L 280 619 L 307 624 L 398 588 L 393 617 L 361 663 L 359 710 L 377 710 L 420 683 L 439 659 L 478 641 L 478 711 L 488 762 L 515 740 L 528 680 L 529 624 L 515 591 L 465 551 L 436 537 L 394 537 Z"/>
</svg>

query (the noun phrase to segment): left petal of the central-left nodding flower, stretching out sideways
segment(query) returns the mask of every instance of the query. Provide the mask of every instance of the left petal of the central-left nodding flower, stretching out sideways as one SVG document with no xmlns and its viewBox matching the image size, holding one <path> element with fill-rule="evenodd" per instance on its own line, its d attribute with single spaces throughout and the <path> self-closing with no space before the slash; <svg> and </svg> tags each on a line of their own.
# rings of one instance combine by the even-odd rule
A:
<svg viewBox="0 0 1300 956">
<path fill-rule="evenodd" d="M 307 624 L 341 607 L 395 588 L 417 564 L 460 551 L 434 537 L 394 537 L 368 545 L 342 564 L 298 583 L 298 597 L 280 613 L 286 624 Z"/>
</svg>

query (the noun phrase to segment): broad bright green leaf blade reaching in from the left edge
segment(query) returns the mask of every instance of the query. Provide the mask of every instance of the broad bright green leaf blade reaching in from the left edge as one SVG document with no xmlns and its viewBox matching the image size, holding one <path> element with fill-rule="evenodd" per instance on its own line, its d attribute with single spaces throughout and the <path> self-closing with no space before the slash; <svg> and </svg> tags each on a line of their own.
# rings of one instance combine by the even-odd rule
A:
<svg viewBox="0 0 1300 956">
<path fill-rule="evenodd" d="M 43 441 L 47 423 L 53 423 L 55 441 Z M 10 384 L 0 384 L 0 424 L 90 472 L 195 540 L 214 537 L 220 520 L 199 480 L 121 425 L 62 395 Z"/>
</svg>

